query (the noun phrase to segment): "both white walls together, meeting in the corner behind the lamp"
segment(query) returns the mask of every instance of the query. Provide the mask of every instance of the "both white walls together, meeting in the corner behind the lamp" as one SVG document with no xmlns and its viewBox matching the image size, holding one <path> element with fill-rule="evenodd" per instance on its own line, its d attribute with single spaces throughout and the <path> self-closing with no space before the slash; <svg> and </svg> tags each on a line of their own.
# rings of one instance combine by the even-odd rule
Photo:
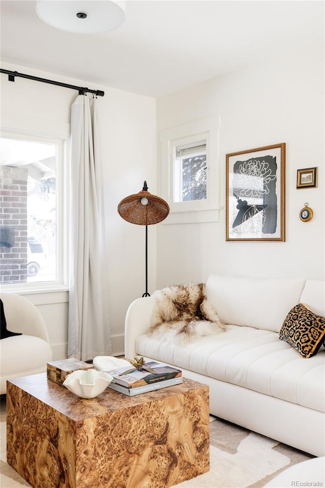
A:
<svg viewBox="0 0 325 488">
<path fill-rule="evenodd" d="M 2 63 L 2 68 L 85 84 L 8 63 Z M 2 126 L 31 131 L 43 127 L 69 134 L 70 107 L 76 92 L 22 78 L 14 83 L 7 80 L 2 74 Z M 99 99 L 108 252 L 108 269 L 103 271 L 109 279 L 113 354 L 123 352 L 129 303 L 145 291 L 145 229 L 124 222 L 117 214 L 117 205 L 125 196 L 140 191 L 145 179 L 149 192 L 160 195 L 156 129 L 159 134 L 163 129 L 221 115 L 221 171 L 216 185 L 220 184 L 223 208 L 218 223 L 160 223 L 148 228 L 149 292 L 171 283 L 205 281 L 210 272 L 324 279 L 322 46 L 320 50 L 308 46 L 305 53 L 283 55 L 273 63 L 223 75 L 156 102 L 108 86 L 87 86 L 105 91 L 105 97 Z M 286 143 L 286 241 L 225 242 L 225 154 L 279 142 Z M 318 166 L 318 188 L 296 190 L 297 169 L 312 166 Z M 314 211 L 309 223 L 299 219 L 305 202 Z M 27 298 L 37 304 L 45 318 L 54 359 L 66 357 L 68 291 L 34 293 Z"/>
</svg>

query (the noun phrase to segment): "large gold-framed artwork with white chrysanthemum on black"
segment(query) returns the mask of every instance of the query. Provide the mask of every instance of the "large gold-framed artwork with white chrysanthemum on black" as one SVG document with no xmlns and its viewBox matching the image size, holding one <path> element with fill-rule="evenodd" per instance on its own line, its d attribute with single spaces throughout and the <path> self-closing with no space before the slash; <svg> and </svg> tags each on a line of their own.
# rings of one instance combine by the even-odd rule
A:
<svg viewBox="0 0 325 488">
<path fill-rule="evenodd" d="M 226 241 L 285 240 L 285 143 L 226 154 Z"/>
</svg>

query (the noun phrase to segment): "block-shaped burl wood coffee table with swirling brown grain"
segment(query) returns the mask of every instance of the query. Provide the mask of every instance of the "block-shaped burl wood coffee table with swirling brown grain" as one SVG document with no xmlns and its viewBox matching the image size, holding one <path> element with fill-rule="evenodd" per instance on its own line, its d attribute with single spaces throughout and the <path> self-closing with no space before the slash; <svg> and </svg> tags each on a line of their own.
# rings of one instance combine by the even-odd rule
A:
<svg viewBox="0 0 325 488">
<path fill-rule="evenodd" d="M 7 460 L 34 488 L 166 488 L 209 471 L 209 388 L 80 399 L 46 374 L 7 382 Z"/>
</svg>

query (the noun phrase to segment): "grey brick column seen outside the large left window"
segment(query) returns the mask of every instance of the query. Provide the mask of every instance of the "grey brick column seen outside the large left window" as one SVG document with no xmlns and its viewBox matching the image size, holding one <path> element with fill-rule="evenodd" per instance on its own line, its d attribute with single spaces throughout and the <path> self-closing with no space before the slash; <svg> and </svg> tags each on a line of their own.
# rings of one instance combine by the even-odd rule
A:
<svg viewBox="0 0 325 488">
<path fill-rule="evenodd" d="M 26 168 L 0 167 L 0 283 L 27 281 L 27 178 Z M 10 229 L 14 242 L 3 238 Z"/>
</svg>

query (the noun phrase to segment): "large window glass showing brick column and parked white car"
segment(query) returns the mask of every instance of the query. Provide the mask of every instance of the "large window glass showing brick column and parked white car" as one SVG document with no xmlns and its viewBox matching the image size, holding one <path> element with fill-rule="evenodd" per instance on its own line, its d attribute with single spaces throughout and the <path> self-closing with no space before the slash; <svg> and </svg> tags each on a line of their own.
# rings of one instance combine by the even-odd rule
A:
<svg viewBox="0 0 325 488">
<path fill-rule="evenodd" d="M 63 141 L 3 134 L 2 285 L 62 283 Z"/>
</svg>

